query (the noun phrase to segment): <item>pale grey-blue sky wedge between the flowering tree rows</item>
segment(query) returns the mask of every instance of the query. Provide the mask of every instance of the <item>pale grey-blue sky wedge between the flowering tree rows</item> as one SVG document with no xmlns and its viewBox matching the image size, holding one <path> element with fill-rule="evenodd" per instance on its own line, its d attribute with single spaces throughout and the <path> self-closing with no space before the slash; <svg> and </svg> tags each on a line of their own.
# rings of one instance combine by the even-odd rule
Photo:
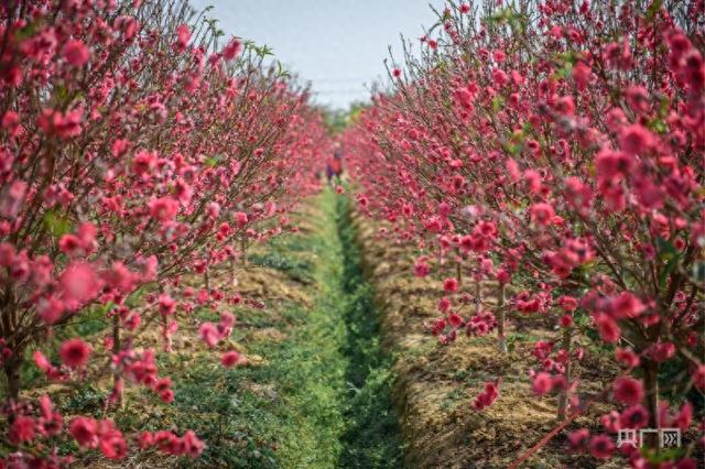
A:
<svg viewBox="0 0 705 469">
<path fill-rule="evenodd" d="M 386 78 L 383 59 L 392 45 L 401 52 L 400 33 L 423 35 L 435 15 L 429 3 L 443 0 L 191 0 L 219 20 L 228 36 L 267 44 L 286 69 L 311 80 L 315 101 L 347 108 L 369 97 L 366 86 Z"/>
</svg>

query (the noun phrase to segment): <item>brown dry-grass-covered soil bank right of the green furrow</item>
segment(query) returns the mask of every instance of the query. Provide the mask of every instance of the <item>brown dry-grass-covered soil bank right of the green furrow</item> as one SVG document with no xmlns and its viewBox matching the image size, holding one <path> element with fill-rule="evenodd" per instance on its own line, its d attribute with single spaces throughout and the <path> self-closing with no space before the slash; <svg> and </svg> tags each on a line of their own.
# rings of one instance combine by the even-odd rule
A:
<svg viewBox="0 0 705 469">
<path fill-rule="evenodd" d="M 382 308 L 384 345 L 397 357 L 393 401 L 408 445 L 405 467 L 507 467 L 556 425 L 556 399 L 533 396 L 528 377 L 535 367 L 533 339 L 555 334 L 531 329 L 531 340 L 517 340 L 507 355 L 497 351 L 495 336 L 460 337 L 442 346 L 423 326 L 437 316 L 440 282 L 411 275 L 413 247 L 381 239 L 378 226 L 360 216 L 354 223 L 366 273 Z M 487 297 L 491 285 L 482 290 Z M 486 305 L 492 303 L 486 298 Z M 509 332 L 514 331 L 510 325 Z M 502 382 L 497 402 L 475 411 L 471 403 L 484 383 L 498 377 Z M 588 393 L 601 389 L 596 382 L 581 385 Z M 571 428 L 596 427 L 599 411 L 594 407 Z M 565 434 L 560 434 L 523 467 L 599 467 L 592 458 L 566 455 L 564 443 Z"/>
</svg>

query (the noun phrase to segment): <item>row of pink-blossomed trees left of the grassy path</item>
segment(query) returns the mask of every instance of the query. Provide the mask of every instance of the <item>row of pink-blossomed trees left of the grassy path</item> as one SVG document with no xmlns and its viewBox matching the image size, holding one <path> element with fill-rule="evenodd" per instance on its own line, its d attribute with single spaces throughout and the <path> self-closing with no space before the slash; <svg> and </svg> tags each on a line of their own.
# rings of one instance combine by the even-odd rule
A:
<svg viewBox="0 0 705 469">
<path fill-rule="evenodd" d="M 289 229 L 286 211 L 315 189 L 326 142 L 306 90 L 220 36 L 183 1 L 0 6 L 0 467 L 68 465 L 65 439 L 109 458 L 203 450 L 192 432 L 131 445 L 108 418 L 64 422 L 48 395 L 23 399 L 37 383 L 21 372 L 67 384 L 108 373 L 107 408 L 128 384 L 171 402 L 137 335 L 159 328 L 169 351 L 177 316 L 232 299 L 208 282 L 213 265 Z M 111 324 L 104 353 L 62 332 L 96 312 Z M 234 321 L 224 312 L 200 336 L 215 347 Z"/>
</svg>

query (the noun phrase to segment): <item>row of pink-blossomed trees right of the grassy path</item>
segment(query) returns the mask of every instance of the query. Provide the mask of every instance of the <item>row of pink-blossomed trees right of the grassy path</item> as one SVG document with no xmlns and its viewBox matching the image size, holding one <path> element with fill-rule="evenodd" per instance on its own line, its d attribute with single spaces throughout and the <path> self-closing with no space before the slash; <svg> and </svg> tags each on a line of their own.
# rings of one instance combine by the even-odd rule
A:
<svg viewBox="0 0 705 469">
<path fill-rule="evenodd" d="M 506 352 L 507 313 L 554 318 L 531 378 L 536 395 L 560 394 L 565 423 L 587 405 L 577 336 L 625 370 L 598 396 L 615 404 L 608 432 L 685 430 L 695 402 L 702 412 L 704 26 L 702 1 L 449 2 L 421 57 L 390 67 L 393 92 L 344 135 L 359 206 L 419 246 L 415 274 L 456 266 L 432 326 L 444 343 L 496 329 Z M 469 317 L 464 276 L 477 286 Z M 497 396 L 488 383 L 476 407 Z M 587 429 L 571 441 L 616 449 Z"/>
</svg>

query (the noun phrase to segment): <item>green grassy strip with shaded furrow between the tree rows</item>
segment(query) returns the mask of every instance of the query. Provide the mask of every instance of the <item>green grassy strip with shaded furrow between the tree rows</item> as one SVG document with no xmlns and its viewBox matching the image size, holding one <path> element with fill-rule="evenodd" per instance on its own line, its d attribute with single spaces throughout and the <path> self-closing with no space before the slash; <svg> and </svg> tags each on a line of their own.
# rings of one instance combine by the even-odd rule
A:
<svg viewBox="0 0 705 469">
<path fill-rule="evenodd" d="M 267 255 L 252 258 L 306 280 L 301 287 L 308 288 L 314 307 L 282 306 L 285 326 L 279 328 L 286 339 L 247 343 L 265 366 L 225 372 L 189 367 L 176 389 L 181 425 L 208 441 L 198 466 L 401 466 L 389 394 L 391 359 L 380 350 L 377 310 L 360 271 L 349 201 L 325 190 L 314 203 L 323 215 L 313 220 L 313 232 L 272 241 Z M 259 320 L 269 320 L 259 314 Z M 248 313 L 247 319 L 257 323 L 258 313 Z"/>
</svg>

